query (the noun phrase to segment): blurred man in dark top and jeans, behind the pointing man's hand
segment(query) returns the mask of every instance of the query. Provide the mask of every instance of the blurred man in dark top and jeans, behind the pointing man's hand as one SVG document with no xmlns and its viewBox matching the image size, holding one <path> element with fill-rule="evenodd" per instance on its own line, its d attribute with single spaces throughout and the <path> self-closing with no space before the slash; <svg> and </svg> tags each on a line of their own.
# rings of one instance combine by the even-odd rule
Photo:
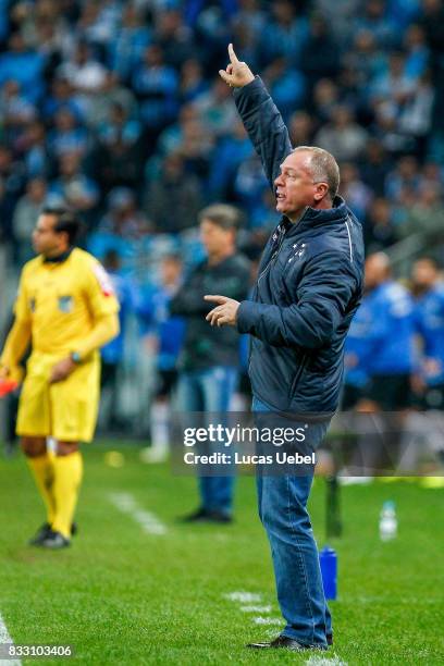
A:
<svg viewBox="0 0 444 666">
<path fill-rule="evenodd" d="M 200 236 L 208 259 L 192 272 L 172 299 L 170 310 L 187 319 L 185 344 L 178 360 L 177 402 L 181 411 L 212 412 L 230 409 L 237 384 L 239 335 L 220 329 L 213 335 L 205 321 L 211 307 L 203 295 L 223 291 L 243 299 L 249 289 L 249 263 L 236 254 L 239 213 L 236 208 L 215 203 L 199 214 Z M 214 470 L 213 470 L 214 472 Z M 200 476 L 200 506 L 189 521 L 230 522 L 233 509 L 232 474 Z"/>
</svg>

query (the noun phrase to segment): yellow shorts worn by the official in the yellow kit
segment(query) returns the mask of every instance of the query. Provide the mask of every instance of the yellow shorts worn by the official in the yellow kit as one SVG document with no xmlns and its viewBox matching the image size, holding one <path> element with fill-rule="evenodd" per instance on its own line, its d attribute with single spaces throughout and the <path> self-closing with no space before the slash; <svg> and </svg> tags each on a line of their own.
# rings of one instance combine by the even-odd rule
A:
<svg viewBox="0 0 444 666">
<path fill-rule="evenodd" d="M 52 436 L 62 442 L 90 442 L 96 429 L 100 398 L 98 355 L 70 374 L 49 383 L 51 368 L 59 357 L 33 353 L 20 397 L 18 435 Z"/>
</svg>

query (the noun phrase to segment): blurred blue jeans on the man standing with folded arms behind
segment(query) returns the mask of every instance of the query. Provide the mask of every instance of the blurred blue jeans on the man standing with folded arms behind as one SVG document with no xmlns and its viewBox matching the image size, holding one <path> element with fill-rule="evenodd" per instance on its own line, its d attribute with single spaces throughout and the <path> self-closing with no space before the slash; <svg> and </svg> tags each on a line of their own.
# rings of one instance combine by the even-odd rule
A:
<svg viewBox="0 0 444 666">
<path fill-rule="evenodd" d="M 237 370 L 215 366 L 206 370 L 182 372 L 177 383 L 177 406 L 181 411 L 217 412 L 230 409 L 237 384 Z M 233 510 L 234 477 L 199 477 L 202 508 L 231 516 Z"/>
</svg>

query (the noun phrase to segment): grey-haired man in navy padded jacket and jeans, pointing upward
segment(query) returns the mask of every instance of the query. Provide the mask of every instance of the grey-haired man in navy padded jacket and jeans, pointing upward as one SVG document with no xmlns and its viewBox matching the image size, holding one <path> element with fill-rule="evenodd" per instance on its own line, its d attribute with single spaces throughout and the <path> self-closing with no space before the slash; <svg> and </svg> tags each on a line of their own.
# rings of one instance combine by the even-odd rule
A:
<svg viewBox="0 0 444 666">
<path fill-rule="evenodd" d="M 361 225 L 337 196 L 340 172 L 325 150 L 293 150 L 288 132 L 259 77 L 230 45 L 221 77 L 235 89 L 244 125 L 276 197 L 281 222 L 269 239 L 250 300 L 209 295 L 212 325 L 251 336 L 254 411 L 309 423 L 317 448 L 337 408 L 344 341 L 362 291 Z M 292 421 L 289 421 L 292 423 Z M 270 540 L 278 599 L 286 626 L 250 648 L 326 649 L 332 643 L 318 550 L 307 499 L 310 476 L 258 474 L 259 515 Z"/>
</svg>

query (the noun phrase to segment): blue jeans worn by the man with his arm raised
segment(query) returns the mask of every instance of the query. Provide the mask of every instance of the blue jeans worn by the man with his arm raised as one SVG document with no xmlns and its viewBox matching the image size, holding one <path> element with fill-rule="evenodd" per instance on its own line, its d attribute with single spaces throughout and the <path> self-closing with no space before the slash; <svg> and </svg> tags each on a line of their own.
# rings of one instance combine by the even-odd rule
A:
<svg viewBox="0 0 444 666">
<path fill-rule="evenodd" d="M 254 397 L 252 411 L 272 409 Z M 321 444 L 328 428 L 324 422 L 309 427 L 313 448 Z M 270 541 L 278 601 L 286 620 L 282 636 L 306 645 L 326 646 L 325 636 L 332 632 L 332 620 L 307 511 L 312 480 L 312 474 L 258 474 L 258 507 Z"/>
</svg>

